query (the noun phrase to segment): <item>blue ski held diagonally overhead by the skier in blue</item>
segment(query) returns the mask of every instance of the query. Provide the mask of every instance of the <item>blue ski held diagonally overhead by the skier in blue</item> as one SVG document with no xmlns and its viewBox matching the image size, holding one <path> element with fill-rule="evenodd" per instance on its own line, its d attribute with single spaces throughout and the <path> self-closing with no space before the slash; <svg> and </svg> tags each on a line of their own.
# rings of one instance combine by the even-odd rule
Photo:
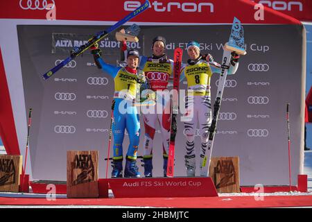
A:
<svg viewBox="0 0 312 222">
<path fill-rule="evenodd" d="M 81 55 L 84 51 L 89 49 L 96 42 L 103 39 L 103 37 L 107 36 L 109 33 L 111 33 L 112 31 L 115 31 L 117 28 L 119 28 L 120 26 L 125 24 L 125 22 L 128 22 L 130 19 L 139 15 L 141 12 L 144 12 L 144 10 L 148 9 L 149 6 L 150 6 L 150 2 L 148 0 L 146 0 L 136 10 L 134 10 L 129 15 L 127 15 L 126 17 L 121 19 L 116 24 L 114 24 L 114 26 L 111 26 L 110 28 L 108 28 L 105 31 L 101 31 L 101 32 L 96 33 L 90 40 L 88 40 L 88 42 L 86 44 L 83 44 L 82 46 L 79 46 L 79 47 L 74 47 L 73 50 L 71 51 L 71 56 L 69 56 L 68 58 L 66 58 L 62 62 L 60 62 L 59 65 L 57 65 L 57 66 L 53 67 L 52 69 L 50 69 L 49 71 L 47 71 L 45 74 L 42 75 L 42 77 L 44 79 L 50 78 L 53 74 L 55 74 L 55 72 L 57 72 L 62 67 L 67 65 L 71 60 L 73 60 L 73 58 L 76 58 L 77 56 Z"/>
</svg>

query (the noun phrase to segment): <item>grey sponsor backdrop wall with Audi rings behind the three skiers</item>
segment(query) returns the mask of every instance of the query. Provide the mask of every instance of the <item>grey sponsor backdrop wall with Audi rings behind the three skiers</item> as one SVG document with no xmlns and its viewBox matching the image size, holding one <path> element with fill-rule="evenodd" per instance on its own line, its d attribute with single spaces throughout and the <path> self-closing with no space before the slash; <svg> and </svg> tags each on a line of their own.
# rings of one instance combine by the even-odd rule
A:
<svg viewBox="0 0 312 222">
<path fill-rule="evenodd" d="M 67 150 L 100 151 L 99 173 L 100 177 L 105 176 L 113 79 L 94 65 L 89 53 L 75 58 L 49 80 L 41 76 L 64 59 L 61 49 L 79 41 L 77 36 L 105 28 L 17 26 L 25 103 L 26 107 L 33 108 L 31 166 L 34 180 L 66 180 Z M 189 40 L 196 40 L 200 42 L 203 53 L 211 53 L 214 60 L 220 62 L 222 44 L 227 42 L 230 28 L 230 25 L 141 26 L 139 43 L 132 47 L 149 56 L 151 40 L 155 35 L 163 35 L 167 40 L 168 57 L 172 58 L 173 49 L 179 46 L 184 49 L 183 60 L 186 62 L 186 44 Z M 290 103 L 292 179 L 295 184 L 300 173 L 304 114 L 302 26 L 245 25 L 244 29 L 248 54 L 241 57 L 239 70 L 228 76 L 225 83 L 212 155 L 239 156 L 241 185 L 287 185 L 286 103 Z M 55 41 L 55 33 L 66 36 L 66 42 Z M 115 43 L 116 40 L 110 36 L 100 44 L 103 59 L 113 65 L 119 60 L 119 46 Z M 55 53 L 51 53 L 53 49 Z M 105 55 L 105 52 L 111 53 Z M 287 56 L 289 52 L 292 56 Z M 218 77 L 214 74 L 211 80 L 212 103 Z M 185 80 L 180 88 L 186 89 Z M 143 155 L 144 147 L 142 118 L 138 155 Z M 153 174 L 162 176 L 162 139 L 159 128 L 156 130 Z M 178 118 L 175 176 L 186 176 L 185 143 L 184 126 Z M 128 144 L 128 136 L 125 135 L 124 155 Z M 195 144 L 199 163 L 199 130 Z M 138 165 L 143 173 L 139 160 Z M 198 165 L 196 175 L 199 175 Z"/>
</svg>

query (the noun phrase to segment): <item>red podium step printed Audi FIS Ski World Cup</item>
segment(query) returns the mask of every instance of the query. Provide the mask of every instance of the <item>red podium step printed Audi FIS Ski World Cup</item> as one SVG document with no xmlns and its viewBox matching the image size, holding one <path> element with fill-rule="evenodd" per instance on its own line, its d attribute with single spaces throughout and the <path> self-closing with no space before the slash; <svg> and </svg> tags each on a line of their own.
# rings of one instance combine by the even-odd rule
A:
<svg viewBox="0 0 312 222">
<path fill-rule="evenodd" d="M 211 178 L 114 178 L 99 179 L 99 193 L 110 185 L 114 198 L 218 196 Z"/>
</svg>

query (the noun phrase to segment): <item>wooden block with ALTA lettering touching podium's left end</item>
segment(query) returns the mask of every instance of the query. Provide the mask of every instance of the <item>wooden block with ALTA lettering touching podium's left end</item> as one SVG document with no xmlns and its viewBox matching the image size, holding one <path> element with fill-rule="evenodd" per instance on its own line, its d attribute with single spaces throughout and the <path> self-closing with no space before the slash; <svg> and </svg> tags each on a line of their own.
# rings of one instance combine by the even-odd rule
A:
<svg viewBox="0 0 312 222">
<path fill-rule="evenodd" d="M 67 197 L 98 198 L 98 151 L 67 151 Z"/>
</svg>

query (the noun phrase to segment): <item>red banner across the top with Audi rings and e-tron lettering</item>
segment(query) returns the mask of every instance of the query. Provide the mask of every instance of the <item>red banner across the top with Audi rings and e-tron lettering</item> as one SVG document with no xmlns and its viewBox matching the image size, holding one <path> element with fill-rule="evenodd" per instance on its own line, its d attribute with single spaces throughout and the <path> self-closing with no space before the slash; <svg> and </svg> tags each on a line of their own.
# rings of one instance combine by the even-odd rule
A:
<svg viewBox="0 0 312 222">
<path fill-rule="evenodd" d="M 0 1 L 0 19 L 119 21 L 121 17 L 128 15 L 143 2 L 144 0 L 93 0 L 90 4 L 85 0 Z M 131 22 L 224 24 L 232 23 L 233 17 L 239 15 L 239 19 L 245 24 L 300 24 L 297 19 L 270 8 L 263 10 L 264 19 L 256 19 L 259 11 L 254 4 L 250 0 L 150 0 L 150 8 L 132 19 Z M 274 7 L 275 3 L 272 4 L 272 8 L 281 6 L 277 4 L 277 7 Z M 311 6 L 311 4 L 304 6 L 304 10 L 308 13 L 311 12 L 309 5 Z M 293 6 L 292 9 L 296 10 L 297 6 Z"/>
</svg>

